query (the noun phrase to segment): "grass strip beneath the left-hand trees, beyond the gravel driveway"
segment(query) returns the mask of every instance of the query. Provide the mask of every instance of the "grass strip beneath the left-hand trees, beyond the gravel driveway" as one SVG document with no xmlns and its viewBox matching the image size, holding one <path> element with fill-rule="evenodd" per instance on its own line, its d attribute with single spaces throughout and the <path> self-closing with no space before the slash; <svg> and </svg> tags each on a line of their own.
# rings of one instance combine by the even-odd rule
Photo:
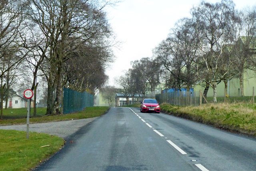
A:
<svg viewBox="0 0 256 171">
<path fill-rule="evenodd" d="M 45 109 L 46 108 L 41 108 Z M 95 106 L 95 107 L 86 107 L 83 111 L 70 113 L 70 114 L 64 114 L 64 115 L 48 115 L 48 116 L 37 116 L 30 118 L 30 123 L 42 123 L 42 122 L 50 122 L 50 121 L 63 121 L 63 120 L 70 120 L 70 119 L 85 119 L 90 117 L 97 117 L 101 116 L 106 111 L 108 111 L 109 107 L 105 106 Z M 12 110 L 12 109 L 8 109 Z M 13 113 L 5 113 L 5 118 L 20 118 L 20 111 L 22 110 L 14 110 Z M 16 113 L 17 112 L 17 113 Z M 44 112 L 45 113 L 45 112 Z M 17 117 L 15 117 L 17 116 Z M 25 115 L 26 116 L 26 115 Z M 22 119 L 3 119 L 0 120 L 0 125 L 6 125 L 6 124 L 17 124 L 17 123 L 26 123 L 25 116 Z"/>
</svg>

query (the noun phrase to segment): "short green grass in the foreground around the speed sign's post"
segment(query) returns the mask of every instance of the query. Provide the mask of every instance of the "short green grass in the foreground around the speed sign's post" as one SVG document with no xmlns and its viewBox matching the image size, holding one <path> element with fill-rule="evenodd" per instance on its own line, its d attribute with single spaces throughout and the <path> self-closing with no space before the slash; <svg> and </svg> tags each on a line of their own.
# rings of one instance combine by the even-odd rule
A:
<svg viewBox="0 0 256 171">
<path fill-rule="evenodd" d="M 60 137 L 30 133 L 26 139 L 25 131 L 0 130 L 0 170 L 28 171 L 40 161 L 56 153 L 64 141 Z M 50 145 L 49 147 L 42 147 Z"/>
</svg>

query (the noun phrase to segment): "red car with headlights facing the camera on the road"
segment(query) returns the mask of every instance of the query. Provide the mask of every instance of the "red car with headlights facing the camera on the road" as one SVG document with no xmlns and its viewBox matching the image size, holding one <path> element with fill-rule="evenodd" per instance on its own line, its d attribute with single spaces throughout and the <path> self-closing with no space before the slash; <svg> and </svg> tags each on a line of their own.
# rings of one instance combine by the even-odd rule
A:
<svg viewBox="0 0 256 171">
<path fill-rule="evenodd" d="M 144 99 L 140 105 L 140 112 L 160 113 L 160 103 L 156 99 Z"/>
</svg>

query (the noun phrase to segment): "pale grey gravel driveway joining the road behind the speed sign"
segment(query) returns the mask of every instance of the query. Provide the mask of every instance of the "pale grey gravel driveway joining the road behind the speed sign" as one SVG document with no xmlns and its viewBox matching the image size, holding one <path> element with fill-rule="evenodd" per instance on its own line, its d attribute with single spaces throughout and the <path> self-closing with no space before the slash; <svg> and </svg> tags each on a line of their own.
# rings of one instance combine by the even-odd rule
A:
<svg viewBox="0 0 256 171">
<path fill-rule="evenodd" d="M 56 135 L 58 137 L 66 138 L 96 118 L 98 117 L 87 118 L 87 119 L 77 119 L 77 120 L 70 120 L 70 121 L 32 123 L 32 124 L 29 124 L 29 131 L 38 132 L 38 133 L 48 133 L 51 135 Z M 26 131 L 26 127 L 27 127 L 26 124 L 8 125 L 8 126 L 0 126 L 0 129 L 14 129 L 19 131 Z"/>
</svg>

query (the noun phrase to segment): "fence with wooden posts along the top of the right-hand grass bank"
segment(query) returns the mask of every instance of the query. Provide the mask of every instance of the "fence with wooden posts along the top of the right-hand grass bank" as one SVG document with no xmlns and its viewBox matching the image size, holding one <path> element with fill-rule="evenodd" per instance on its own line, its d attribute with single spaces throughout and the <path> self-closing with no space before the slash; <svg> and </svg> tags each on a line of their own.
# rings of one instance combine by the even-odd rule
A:
<svg viewBox="0 0 256 171">
<path fill-rule="evenodd" d="M 255 94 L 254 87 L 252 87 L 251 96 L 231 96 L 228 97 L 226 94 L 226 90 L 224 90 L 224 94 L 222 96 L 217 96 L 217 102 L 221 103 L 232 103 L 232 102 L 246 102 L 246 103 L 254 103 L 255 102 Z M 202 105 L 204 103 L 212 103 L 213 97 L 205 97 L 200 91 L 174 91 L 162 94 L 156 94 L 156 100 L 159 103 L 169 103 L 172 105 L 178 106 L 189 106 L 189 105 Z"/>
</svg>

